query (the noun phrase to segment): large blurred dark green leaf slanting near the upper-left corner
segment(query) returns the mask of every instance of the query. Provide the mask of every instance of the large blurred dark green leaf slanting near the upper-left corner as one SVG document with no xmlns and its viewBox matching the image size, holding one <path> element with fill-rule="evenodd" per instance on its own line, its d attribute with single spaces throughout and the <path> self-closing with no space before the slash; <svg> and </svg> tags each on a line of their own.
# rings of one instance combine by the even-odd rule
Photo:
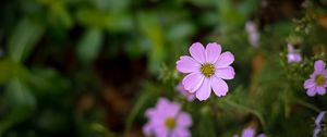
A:
<svg viewBox="0 0 327 137">
<path fill-rule="evenodd" d="M 44 34 L 44 26 L 28 18 L 22 20 L 9 39 L 9 55 L 15 62 L 23 61 Z"/>
</svg>

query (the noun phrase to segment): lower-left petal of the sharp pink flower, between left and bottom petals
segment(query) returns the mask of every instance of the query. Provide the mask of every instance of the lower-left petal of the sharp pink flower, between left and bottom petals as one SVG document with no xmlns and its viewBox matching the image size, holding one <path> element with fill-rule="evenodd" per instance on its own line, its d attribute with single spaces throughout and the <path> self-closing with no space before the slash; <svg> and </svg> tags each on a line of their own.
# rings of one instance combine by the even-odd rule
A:
<svg viewBox="0 0 327 137">
<path fill-rule="evenodd" d="M 194 92 L 199 88 L 203 79 L 204 75 L 202 75 L 201 73 L 191 73 L 183 78 L 182 84 L 187 91 Z"/>
</svg>

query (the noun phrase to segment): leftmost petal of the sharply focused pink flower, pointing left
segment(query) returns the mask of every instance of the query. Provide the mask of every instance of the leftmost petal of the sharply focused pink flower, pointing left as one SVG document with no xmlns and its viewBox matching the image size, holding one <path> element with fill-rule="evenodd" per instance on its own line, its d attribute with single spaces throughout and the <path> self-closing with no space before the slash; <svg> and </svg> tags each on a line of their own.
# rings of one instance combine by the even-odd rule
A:
<svg viewBox="0 0 327 137">
<path fill-rule="evenodd" d="M 177 70 L 181 73 L 198 72 L 199 67 L 201 64 L 187 55 L 181 57 L 177 62 Z"/>
</svg>

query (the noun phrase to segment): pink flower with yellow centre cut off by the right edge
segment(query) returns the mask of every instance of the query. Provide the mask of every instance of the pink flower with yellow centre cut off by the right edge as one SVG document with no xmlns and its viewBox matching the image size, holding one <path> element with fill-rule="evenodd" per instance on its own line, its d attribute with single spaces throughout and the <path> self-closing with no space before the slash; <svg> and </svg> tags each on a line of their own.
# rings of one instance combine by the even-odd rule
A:
<svg viewBox="0 0 327 137">
<path fill-rule="evenodd" d="M 323 60 L 315 61 L 315 71 L 310 78 L 303 84 L 306 95 L 310 97 L 326 94 L 327 87 L 327 70 L 325 70 L 325 62 Z"/>
</svg>

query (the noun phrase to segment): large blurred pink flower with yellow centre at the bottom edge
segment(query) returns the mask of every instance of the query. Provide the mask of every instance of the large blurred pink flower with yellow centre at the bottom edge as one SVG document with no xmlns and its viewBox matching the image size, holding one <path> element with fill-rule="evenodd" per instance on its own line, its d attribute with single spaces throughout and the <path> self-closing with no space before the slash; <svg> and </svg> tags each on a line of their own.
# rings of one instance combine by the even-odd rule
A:
<svg viewBox="0 0 327 137">
<path fill-rule="evenodd" d="M 180 109 L 178 103 L 160 98 L 155 108 L 145 112 L 149 120 L 143 127 L 145 136 L 191 137 L 189 130 L 192 125 L 191 115 Z"/>
</svg>

